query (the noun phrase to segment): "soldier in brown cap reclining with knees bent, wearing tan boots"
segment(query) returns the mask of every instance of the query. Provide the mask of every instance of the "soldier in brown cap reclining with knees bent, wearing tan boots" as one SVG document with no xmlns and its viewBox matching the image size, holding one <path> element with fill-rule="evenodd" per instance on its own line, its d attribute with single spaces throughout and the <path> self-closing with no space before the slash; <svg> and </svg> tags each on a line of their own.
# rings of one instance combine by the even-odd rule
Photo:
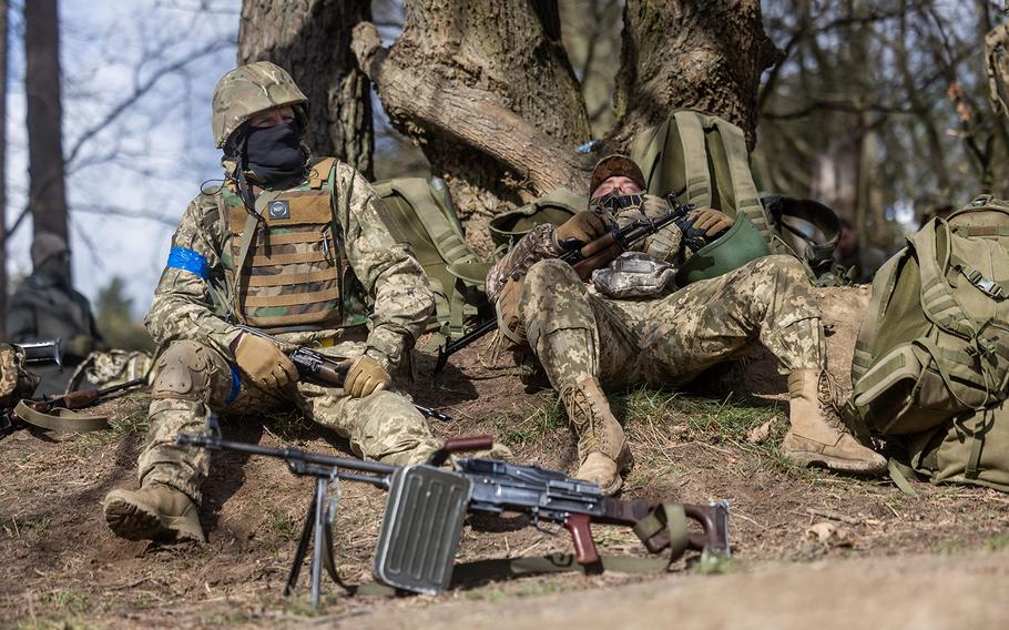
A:
<svg viewBox="0 0 1009 630">
<path fill-rule="evenodd" d="M 675 224 L 645 238 L 640 253 L 622 254 L 614 244 L 588 255 L 614 222 L 624 225 L 642 214 L 655 219 L 671 211 L 665 200 L 643 195 L 644 187 L 641 170 L 629 158 L 604 158 L 592 173 L 589 209 L 559 227 L 533 228 L 487 276 L 499 329 L 533 354 L 560 394 L 579 439 L 574 476 L 613 494 L 630 466 L 628 440 L 604 387 L 682 385 L 757 341 L 788 374 L 792 426 L 782 444 L 785 457 L 803 466 L 881 472 L 886 460 L 832 427 L 821 407 L 824 334 L 798 261 L 764 256 L 677 291 L 670 283 L 673 266 L 686 254 Z M 710 207 L 694 211 L 691 219 L 689 232 L 707 240 L 734 223 Z M 588 284 L 588 277 L 557 260 L 584 244 L 587 260 L 579 268 L 582 276 L 592 273 Z M 636 284 L 614 288 L 609 280 L 628 276 L 628 270 L 645 273 Z"/>
</svg>

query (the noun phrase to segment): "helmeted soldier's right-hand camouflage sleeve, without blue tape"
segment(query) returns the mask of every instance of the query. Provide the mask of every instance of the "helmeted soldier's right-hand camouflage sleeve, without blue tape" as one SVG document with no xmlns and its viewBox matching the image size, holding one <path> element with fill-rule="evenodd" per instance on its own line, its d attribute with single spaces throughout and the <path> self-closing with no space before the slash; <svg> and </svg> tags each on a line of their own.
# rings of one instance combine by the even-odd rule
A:
<svg viewBox="0 0 1009 630">
<path fill-rule="evenodd" d="M 334 203 L 347 257 L 374 304 L 366 354 L 395 369 L 424 333 L 435 296 L 420 263 L 383 223 L 381 200 L 371 185 L 346 164 L 337 169 Z"/>
</svg>

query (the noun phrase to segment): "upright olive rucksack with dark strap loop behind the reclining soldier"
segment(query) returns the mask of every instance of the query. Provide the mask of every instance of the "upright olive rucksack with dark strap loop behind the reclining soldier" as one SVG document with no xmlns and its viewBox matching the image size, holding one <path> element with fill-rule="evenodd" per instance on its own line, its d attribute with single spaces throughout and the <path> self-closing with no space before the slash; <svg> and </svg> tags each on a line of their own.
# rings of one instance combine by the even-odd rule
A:
<svg viewBox="0 0 1009 630">
<path fill-rule="evenodd" d="M 631 159 L 650 194 L 744 214 L 771 253 L 797 257 L 811 280 L 833 271 L 840 222 L 827 206 L 782 195 L 761 197 L 743 130 L 716 115 L 680 110 L 638 134 Z M 833 276 L 832 276 L 833 277 Z"/>
</svg>

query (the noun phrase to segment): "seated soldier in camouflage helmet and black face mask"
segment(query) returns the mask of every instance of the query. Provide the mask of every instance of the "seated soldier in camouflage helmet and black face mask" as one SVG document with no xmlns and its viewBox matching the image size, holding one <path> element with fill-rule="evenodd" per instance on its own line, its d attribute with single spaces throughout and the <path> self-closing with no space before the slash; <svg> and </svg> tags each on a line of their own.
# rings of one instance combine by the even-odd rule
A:
<svg viewBox="0 0 1009 630">
<path fill-rule="evenodd" d="M 208 456 L 177 446 L 175 435 L 202 430 L 207 407 L 295 405 L 357 455 L 387 464 L 421 461 L 440 446 L 410 400 L 388 390 L 434 309 L 424 272 L 389 235 L 360 173 L 312 159 L 305 108 L 287 72 L 265 61 L 228 72 L 214 90 L 226 180 L 182 216 L 145 319 L 165 349 L 141 489 L 104 500 L 105 521 L 123 538 L 204 540 L 197 506 Z M 234 321 L 349 357 L 344 387 L 299 380 L 279 348 Z"/>
</svg>

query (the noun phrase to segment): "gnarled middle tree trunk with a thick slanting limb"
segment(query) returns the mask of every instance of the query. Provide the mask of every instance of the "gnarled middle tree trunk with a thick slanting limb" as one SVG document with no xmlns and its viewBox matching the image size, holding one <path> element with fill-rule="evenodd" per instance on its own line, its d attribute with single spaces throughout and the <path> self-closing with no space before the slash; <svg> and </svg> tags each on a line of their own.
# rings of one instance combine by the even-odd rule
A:
<svg viewBox="0 0 1009 630">
<path fill-rule="evenodd" d="M 460 209 L 489 215 L 501 201 L 584 186 L 574 149 L 589 140 L 589 116 L 556 1 L 407 0 L 391 48 L 363 24 L 354 52 Z"/>
</svg>

